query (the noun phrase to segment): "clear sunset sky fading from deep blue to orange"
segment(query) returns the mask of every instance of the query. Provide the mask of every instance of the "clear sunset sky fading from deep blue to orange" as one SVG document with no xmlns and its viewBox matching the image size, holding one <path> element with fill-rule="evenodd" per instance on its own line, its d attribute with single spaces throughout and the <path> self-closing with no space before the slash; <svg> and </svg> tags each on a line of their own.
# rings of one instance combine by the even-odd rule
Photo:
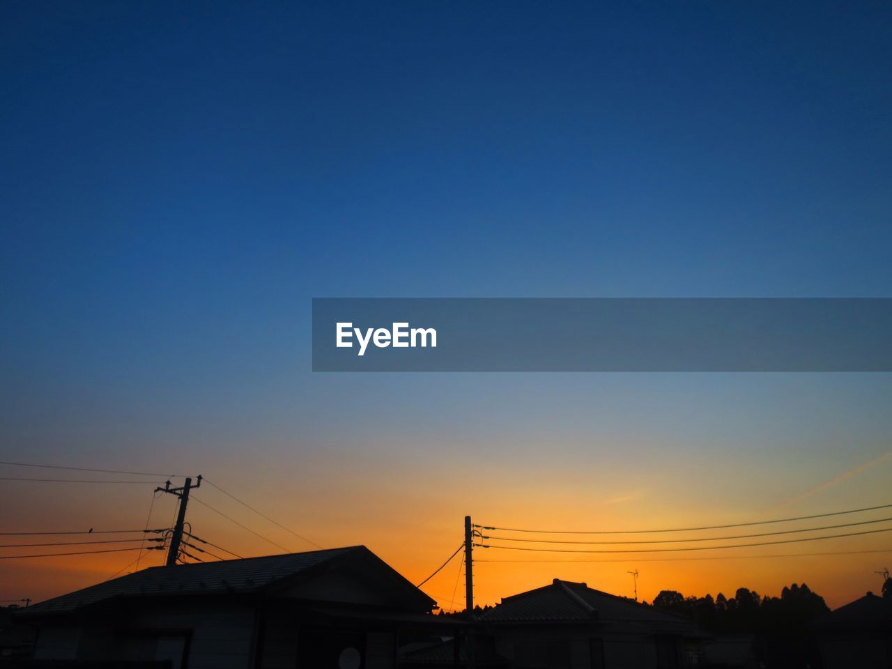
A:
<svg viewBox="0 0 892 669">
<path fill-rule="evenodd" d="M 310 301 L 892 296 L 890 19 L 880 3 L 5 3 L 0 456 L 202 474 L 413 582 L 467 514 L 628 530 L 888 503 L 888 374 L 314 374 Z M 0 528 L 169 526 L 173 500 L 152 494 L 167 476 L 136 478 L 2 481 Z M 194 532 L 237 554 L 312 548 L 207 484 L 195 497 L 265 537 L 191 504 Z M 631 595 L 638 569 L 648 600 L 805 581 L 838 606 L 879 590 L 892 541 L 575 565 L 479 550 L 482 603 L 556 576 Z M 754 558 L 863 550 L 886 552 Z M 3 560 L 0 599 L 134 557 Z M 459 576 L 426 589 L 452 608 Z"/>
</svg>

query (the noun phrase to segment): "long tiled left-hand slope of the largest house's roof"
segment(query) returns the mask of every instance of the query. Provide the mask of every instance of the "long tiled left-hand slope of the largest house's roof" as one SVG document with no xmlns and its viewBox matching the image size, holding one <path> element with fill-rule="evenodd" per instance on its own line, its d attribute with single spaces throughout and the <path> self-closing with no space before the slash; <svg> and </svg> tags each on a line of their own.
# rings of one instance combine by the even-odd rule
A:
<svg viewBox="0 0 892 669">
<path fill-rule="evenodd" d="M 261 558 L 220 560 L 198 565 L 154 566 L 61 597 L 47 599 L 21 609 L 18 615 L 73 611 L 115 597 L 257 592 L 273 582 L 299 574 L 310 567 L 360 551 L 370 553 L 364 546 L 351 546 Z"/>
</svg>

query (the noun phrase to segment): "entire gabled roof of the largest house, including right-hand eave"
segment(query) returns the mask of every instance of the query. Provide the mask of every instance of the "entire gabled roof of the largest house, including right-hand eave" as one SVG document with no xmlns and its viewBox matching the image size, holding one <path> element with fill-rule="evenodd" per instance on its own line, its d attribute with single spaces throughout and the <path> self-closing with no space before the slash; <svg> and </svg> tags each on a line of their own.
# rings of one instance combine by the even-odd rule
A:
<svg viewBox="0 0 892 669">
<path fill-rule="evenodd" d="M 364 563 L 376 569 L 376 579 L 390 580 L 419 605 L 434 605 L 434 600 L 418 591 L 400 574 L 365 546 L 286 553 L 260 558 L 240 558 L 204 562 L 197 565 L 154 566 L 134 574 L 111 579 L 67 595 L 47 599 L 21 610 L 18 615 L 68 613 L 104 600 L 163 595 L 254 594 L 274 591 L 301 575 L 310 577 L 319 569 L 342 564 Z M 410 589 L 410 591 L 409 591 Z M 412 592 L 414 591 L 414 592 Z"/>
</svg>

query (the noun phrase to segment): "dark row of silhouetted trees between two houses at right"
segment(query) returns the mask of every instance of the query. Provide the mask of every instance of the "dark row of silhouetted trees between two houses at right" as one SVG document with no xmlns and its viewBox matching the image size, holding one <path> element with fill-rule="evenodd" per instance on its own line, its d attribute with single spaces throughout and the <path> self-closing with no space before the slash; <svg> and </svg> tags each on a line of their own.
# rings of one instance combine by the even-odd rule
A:
<svg viewBox="0 0 892 669">
<path fill-rule="evenodd" d="M 665 590 L 652 606 L 689 617 L 713 632 L 781 632 L 830 612 L 824 599 L 805 583 L 784 588 L 780 597 L 762 597 L 748 588 L 739 588 L 731 598 L 720 592 L 715 599 L 712 595 L 684 597 L 681 592 Z"/>
</svg>

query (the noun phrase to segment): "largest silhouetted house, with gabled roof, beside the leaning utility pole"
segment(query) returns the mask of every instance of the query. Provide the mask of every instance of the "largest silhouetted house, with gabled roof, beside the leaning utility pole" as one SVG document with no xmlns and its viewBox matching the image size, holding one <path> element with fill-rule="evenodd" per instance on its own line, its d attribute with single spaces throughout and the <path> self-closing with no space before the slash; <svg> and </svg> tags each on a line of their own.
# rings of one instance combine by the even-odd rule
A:
<svg viewBox="0 0 892 669">
<path fill-rule="evenodd" d="M 16 617 L 37 627 L 35 660 L 384 669 L 396 664 L 401 632 L 455 626 L 428 615 L 433 607 L 358 546 L 152 567 Z"/>
</svg>

